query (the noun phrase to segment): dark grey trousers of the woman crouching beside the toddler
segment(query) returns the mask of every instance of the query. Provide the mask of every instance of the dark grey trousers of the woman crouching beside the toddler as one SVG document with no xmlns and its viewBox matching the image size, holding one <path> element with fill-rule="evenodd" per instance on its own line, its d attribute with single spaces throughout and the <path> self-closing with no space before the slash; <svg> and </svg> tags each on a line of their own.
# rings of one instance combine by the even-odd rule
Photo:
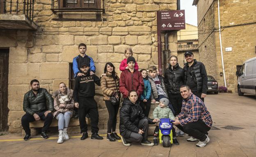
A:
<svg viewBox="0 0 256 157">
<path fill-rule="evenodd" d="M 141 135 L 139 133 L 132 132 L 131 135 L 130 135 L 130 138 L 127 138 L 128 142 L 140 143 L 142 141 L 148 140 L 149 120 L 146 119 L 146 118 L 145 119 L 140 119 L 139 124 L 138 124 L 138 128 L 140 130 L 143 130 L 144 133 Z"/>
</svg>

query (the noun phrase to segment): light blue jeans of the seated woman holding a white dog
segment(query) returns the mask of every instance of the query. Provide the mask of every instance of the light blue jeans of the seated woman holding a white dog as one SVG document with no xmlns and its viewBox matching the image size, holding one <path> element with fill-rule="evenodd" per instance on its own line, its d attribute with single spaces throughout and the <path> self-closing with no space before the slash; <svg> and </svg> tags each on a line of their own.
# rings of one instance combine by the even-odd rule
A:
<svg viewBox="0 0 256 157">
<path fill-rule="evenodd" d="M 69 120 L 70 120 L 71 117 L 72 117 L 71 112 L 59 113 L 56 116 L 56 119 L 58 119 L 58 128 L 59 128 L 59 130 L 63 130 L 64 128 L 68 128 Z"/>
</svg>

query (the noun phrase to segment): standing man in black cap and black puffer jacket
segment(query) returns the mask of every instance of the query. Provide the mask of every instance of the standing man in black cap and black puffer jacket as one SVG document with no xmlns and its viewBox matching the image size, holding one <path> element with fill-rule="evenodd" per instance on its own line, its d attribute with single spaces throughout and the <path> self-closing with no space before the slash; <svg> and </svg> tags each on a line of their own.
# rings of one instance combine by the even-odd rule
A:
<svg viewBox="0 0 256 157">
<path fill-rule="evenodd" d="M 206 97 L 208 89 L 208 77 L 205 66 L 201 62 L 194 60 L 194 54 L 191 51 L 185 52 L 187 63 L 184 66 L 184 83 L 189 86 L 192 93 L 197 95 L 201 100 Z"/>
</svg>

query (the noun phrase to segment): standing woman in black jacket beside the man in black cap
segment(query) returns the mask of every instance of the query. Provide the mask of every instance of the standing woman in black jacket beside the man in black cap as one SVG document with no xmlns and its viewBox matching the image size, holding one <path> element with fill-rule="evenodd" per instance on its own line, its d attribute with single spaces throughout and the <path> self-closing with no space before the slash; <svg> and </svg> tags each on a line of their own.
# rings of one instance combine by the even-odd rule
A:
<svg viewBox="0 0 256 157">
<path fill-rule="evenodd" d="M 165 70 L 165 83 L 167 84 L 167 93 L 169 101 L 174 109 L 174 116 L 181 113 L 182 96 L 180 87 L 184 84 L 183 68 L 178 64 L 178 57 L 172 55 L 170 57 L 170 64 L 168 69 Z M 182 131 L 177 130 L 177 135 L 184 136 Z"/>
</svg>

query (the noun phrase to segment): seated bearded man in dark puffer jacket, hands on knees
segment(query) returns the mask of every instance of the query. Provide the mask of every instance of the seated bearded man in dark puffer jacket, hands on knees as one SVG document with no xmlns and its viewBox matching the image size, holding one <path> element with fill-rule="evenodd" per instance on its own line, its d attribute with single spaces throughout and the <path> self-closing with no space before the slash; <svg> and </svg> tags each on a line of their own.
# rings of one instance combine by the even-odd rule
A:
<svg viewBox="0 0 256 157">
<path fill-rule="evenodd" d="M 32 80 L 30 87 L 31 90 L 24 95 L 23 100 L 23 110 L 26 112 L 21 118 L 21 125 L 26 133 L 24 140 L 30 139 L 29 123 L 38 120 L 44 121 L 41 137 L 48 139 L 46 130 L 48 130 L 53 120 L 53 98 L 45 88 L 40 88 L 38 80 Z M 46 101 L 48 101 L 48 106 Z"/>
</svg>

